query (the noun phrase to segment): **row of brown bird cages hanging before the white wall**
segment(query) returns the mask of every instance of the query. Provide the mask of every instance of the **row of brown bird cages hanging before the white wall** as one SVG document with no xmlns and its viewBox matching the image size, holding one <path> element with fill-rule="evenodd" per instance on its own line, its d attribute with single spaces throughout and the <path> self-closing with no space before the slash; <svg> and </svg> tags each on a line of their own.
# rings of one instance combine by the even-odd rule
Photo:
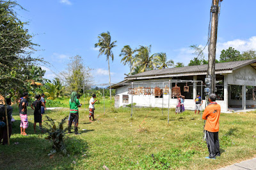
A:
<svg viewBox="0 0 256 170">
<path fill-rule="evenodd" d="M 138 87 L 138 88 L 129 88 L 128 89 L 129 95 L 153 95 L 153 96 L 161 96 L 161 95 L 168 95 L 169 94 L 169 87 L 164 86 L 164 88 L 156 87 L 156 88 L 145 88 L 145 87 Z"/>
</svg>

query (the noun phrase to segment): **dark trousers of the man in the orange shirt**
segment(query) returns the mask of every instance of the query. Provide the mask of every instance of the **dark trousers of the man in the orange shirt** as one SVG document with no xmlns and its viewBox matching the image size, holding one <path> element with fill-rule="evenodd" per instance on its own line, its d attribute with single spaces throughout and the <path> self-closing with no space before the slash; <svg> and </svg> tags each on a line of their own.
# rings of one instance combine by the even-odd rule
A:
<svg viewBox="0 0 256 170">
<path fill-rule="evenodd" d="M 216 156 L 220 156 L 219 132 L 208 132 L 205 130 L 205 133 L 209 157 L 215 158 Z"/>
</svg>

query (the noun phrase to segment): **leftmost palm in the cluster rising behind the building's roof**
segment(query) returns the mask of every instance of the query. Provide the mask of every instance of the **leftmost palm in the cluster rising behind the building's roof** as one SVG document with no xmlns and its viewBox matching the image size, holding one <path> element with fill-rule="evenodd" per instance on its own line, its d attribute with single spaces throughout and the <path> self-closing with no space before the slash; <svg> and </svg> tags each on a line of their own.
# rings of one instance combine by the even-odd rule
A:
<svg viewBox="0 0 256 170">
<path fill-rule="evenodd" d="M 122 50 L 121 54 L 119 56 L 124 56 L 124 58 L 121 59 L 121 62 L 124 62 L 124 65 L 129 63 L 130 65 L 130 73 L 132 72 L 132 61 L 134 59 L 134 56 L 132 56 L 136 50 L 132 50 L 130 45 L 125 45 Z"/>
</svg>

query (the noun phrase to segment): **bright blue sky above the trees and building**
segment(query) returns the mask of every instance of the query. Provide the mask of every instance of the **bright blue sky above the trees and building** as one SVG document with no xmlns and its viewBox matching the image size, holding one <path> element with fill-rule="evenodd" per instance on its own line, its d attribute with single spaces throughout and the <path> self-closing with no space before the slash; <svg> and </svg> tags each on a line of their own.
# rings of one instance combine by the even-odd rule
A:
<svg viewBox="0 0 256 170">
<path fill-rule="evenodd" d="M 207 42 L 211 0 L 19 0 L 27 11 L 17 10 L 22 21 L 28 21 L 29 32 L 40 51 L 35 56 L 51 63 L 45 78 L 55 77 L 67 67 L 69 57 L 80 55 L 84 65 L 93 68 L 95 84 L 108 82 L 106 56 L 97 57 L 97 36 L 109 31 L 118 45 L 113 49 L 111 81 L 124 80 L 129 66 L 120 63 L 124 45 L 133 49 L 152 45 L 152 53 L 166 52 L 168 59 L 188 65 L 193 59 L 189 45 L 205 46 Z M 234 47 L 241 52 L 256 50 L 256 1 L 224 0 L 221 3 L 217 56 Z M 207 49 L 207 48 L 206 48 Z M 205 57 L 207 58 L 207 50 Z"/>
</svg>

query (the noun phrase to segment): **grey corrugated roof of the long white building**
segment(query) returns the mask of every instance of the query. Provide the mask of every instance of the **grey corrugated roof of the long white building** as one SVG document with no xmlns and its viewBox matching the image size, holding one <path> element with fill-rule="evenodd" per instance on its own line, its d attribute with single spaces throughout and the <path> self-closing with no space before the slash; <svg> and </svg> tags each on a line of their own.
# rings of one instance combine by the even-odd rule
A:
<svg viewBox="0 0 256 170">
<path fill-rule="evenodd" d="M 243 61 L 231 61 L 226 63 L 216 63 L 215 71 L 236 70 L 237 68 L 241 68 L 242 66 L 250 65 L 252 63 L 256 63 L 256 59 L 248 59 Z M 161 70 L 150 70 L 147 72 L 130 75 L 129 77 L 125 77 L 125 78 L 127 79 L 127 78 L 133 78 L 133 77 L 145 77 L 150 75 L 167 75 L 167 74 L 175 74 L 175 73 L 207 72 L 207 66 L 208 65 L 197 65 L 197 66 L 165 68 Z"/>
</svg>

